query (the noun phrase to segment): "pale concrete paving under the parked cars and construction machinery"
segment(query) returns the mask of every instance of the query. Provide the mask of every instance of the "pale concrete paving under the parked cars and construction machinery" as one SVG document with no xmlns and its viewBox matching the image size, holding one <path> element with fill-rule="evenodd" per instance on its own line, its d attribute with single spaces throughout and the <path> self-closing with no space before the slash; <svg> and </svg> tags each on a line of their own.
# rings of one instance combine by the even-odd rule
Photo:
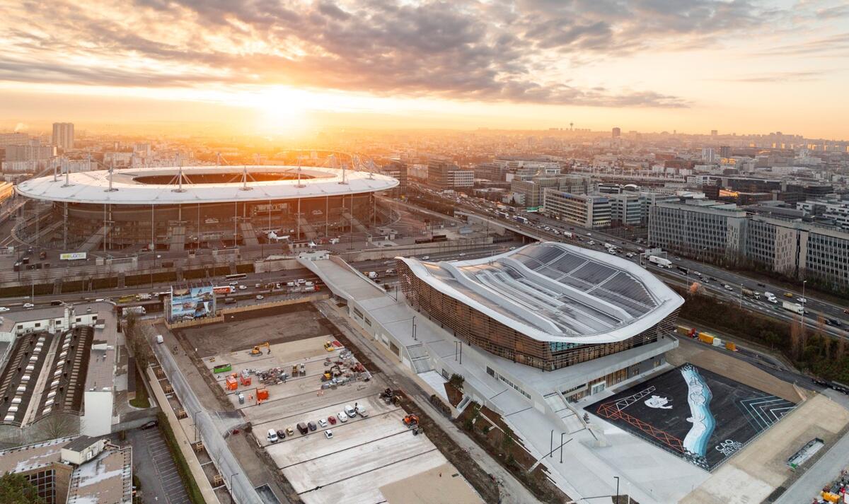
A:
<svg viewBox="0 0 849 504">
<path fill-rule="evenodd" d="M 357 372 L 350 352 L 338 342 L 327 351 L 328 341 L 334 340 L 322 335 L 262 346 L 258 356 L 244 349 L 222 352 L 214 361 L 205 359 L 210 370 L 230 364 L 232 370 L 215 375 L 216 383 L 250 421 L 257 445 L 267 451 L 301 499 L 306 504 L 351 499 L 376 504 L 387 500 L 381 491 L 386 487 L 387 495 L 396 495 L 399 488 L 414 490 L 408 495 L 416 497 L 405 500 L 409 502 L 480 502 L 427 436 L 413 434 L 414 429 L 405 425 L 402 409 L 380 398 L 386 388 L 380 375 Z M 343 362 L 340 383 L 324 384 L 323 373 L 336 362 Z M 260 384 L 261 373 L 273 368 L 286 372 L 285 381 Z M 250 385 L 239 380 L 236 389 L 228 389 L 228 376 L 240 376 L 242 370 L 250 370 Z M 267 399 L 258 400 L 257 388 L 267 389 Z M 365 417 L 348 417 L 346 406 L 364 408 Z M 301 434 L 298 423 L 308 422 L 316 429 Z M 268 429 L 285 433 L 287 428 L 294 434 L 269 440 Z M 325 435 L 328 430 L 331 438 Z"/>
</svg>

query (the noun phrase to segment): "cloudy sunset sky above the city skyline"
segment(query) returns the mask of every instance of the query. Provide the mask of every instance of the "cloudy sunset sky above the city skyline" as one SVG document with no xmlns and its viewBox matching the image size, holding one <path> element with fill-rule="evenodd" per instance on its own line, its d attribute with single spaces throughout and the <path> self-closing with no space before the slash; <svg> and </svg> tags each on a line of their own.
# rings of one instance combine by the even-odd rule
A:
<svg viewBox="0 0 849 504">
<path fill-rule="evenodd" d="M 845 0 L 0 0 L 0 124 L 849 138 Z"/>
</svg>

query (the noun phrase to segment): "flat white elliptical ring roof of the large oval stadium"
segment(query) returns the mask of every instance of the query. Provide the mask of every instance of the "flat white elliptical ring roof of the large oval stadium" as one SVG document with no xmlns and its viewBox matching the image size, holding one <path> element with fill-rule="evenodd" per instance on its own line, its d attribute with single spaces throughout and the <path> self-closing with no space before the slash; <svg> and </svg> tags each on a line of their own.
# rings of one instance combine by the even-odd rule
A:
<svg viewBox="0 0 849 504">
<path fill-rule="evenodd" d="M 248 182 L 241 176 L 247 170 Z M 198 204 L 234 201 L 267 201 L 278 199 L 323 198 L 357 193 L 373 193 L 395 188 L 398 181 L 391 176 L 366 171 L 345 172 L 335 168 L 301 167 L 301 187 L 297 180 L 272 180 L 252 182 L 251 174 L 286 173 L 296 176 L 297 166 L 187 166 L 183 167 L 183 186 L 175 183 L 144 183 L 139 177 L 171 177 L 175 181 L 180 172 L 176 166 L 115 170 L 110 191 L 110 172 L 82 171 L 65 176 L 42 176 L 16 186 L 16 191 L 26 198 L 69 203 L 90 204 Z M 192 176 L 210 174 L 232 175 L 233 182 L 187 183 Z M 247 189 L 246 189 L 247 188 Z"/>
</svg>

